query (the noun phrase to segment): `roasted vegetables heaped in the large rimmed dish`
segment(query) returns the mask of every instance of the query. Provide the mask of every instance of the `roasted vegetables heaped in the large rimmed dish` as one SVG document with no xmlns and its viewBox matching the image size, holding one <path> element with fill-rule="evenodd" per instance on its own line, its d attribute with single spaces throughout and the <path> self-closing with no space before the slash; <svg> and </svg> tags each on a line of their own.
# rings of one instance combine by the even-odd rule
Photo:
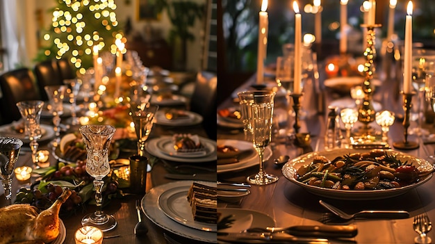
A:
<svg viewBox="0 0 435 244">
<path fill-rule="evenodd" d="M 296 170 L 296 179 L 310 186 L 337 190 L 381 190 L 414 184 L 432 172 L 420 171 L 392 152 L 373 149 L 337 156 L 331 161 L 326 156 L 314 156 L 311 163 Z"/>
</svg>

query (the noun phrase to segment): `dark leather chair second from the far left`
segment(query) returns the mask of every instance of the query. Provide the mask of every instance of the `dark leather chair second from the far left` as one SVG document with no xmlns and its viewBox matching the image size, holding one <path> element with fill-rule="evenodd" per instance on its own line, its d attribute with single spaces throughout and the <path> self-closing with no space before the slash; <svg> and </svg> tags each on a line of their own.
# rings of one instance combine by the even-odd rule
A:
<svg viewBox="0 0 435 244">
<path fill-rule="evenodd" d="M 40 91 L 42 101 L 48 101 L 45 86 L 60 86 L 63 85 L 62 75 L 56 60 L 44 60 L 35 65 L 35 76 Z"/>
</svg>

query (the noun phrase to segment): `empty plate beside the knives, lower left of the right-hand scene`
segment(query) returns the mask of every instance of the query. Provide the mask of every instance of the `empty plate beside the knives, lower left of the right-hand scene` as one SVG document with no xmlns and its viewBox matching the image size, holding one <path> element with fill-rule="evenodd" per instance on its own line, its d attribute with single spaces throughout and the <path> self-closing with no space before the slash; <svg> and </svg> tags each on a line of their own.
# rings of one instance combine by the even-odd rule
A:
<svg viewBox="0 0 435 244">
<path fill-rule="evenodd" d="M 274 227 L 275 221 L 272 217 L 265 213 L 261 213 L 254 210 L 249 209 L 233 209 L 233 208 L 218 208 L 217 213 L 220 213 L 221 217 L 224 218 L 231 215 L 231 219 L 234 220 L 233 224 L 227 229 L 218 229 L 217 232 L 229 232 L 229 233 L 238 233 L 248 228 L 265 228 L 265 227 Z M 247 216 L 252 215 L 252 222 L 249 227 L 246 228 L 245 221 L 247 220 Z M 240 226 L 245 226 L 240 228 Z"/>
</svg>

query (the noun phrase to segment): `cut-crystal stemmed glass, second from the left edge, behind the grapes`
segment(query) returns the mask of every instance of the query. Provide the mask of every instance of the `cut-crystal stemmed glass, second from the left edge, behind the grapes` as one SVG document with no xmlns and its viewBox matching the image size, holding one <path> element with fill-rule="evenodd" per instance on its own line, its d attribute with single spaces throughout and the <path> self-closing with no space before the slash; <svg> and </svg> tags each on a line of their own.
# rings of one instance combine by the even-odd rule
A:
<svg viewBox="0 0 435 244">
<path fill-rule="evenodd" d="M 17 102 L 19 113 L 24 119 L 24 130 L 26 137 L 30 140 L 30 148 L 32 150 L 33 168 L 40 168 L 38 165 L 38 140 L 42 136 L 40 119 L 44 101 L 29 100 Z"/>
</svg>

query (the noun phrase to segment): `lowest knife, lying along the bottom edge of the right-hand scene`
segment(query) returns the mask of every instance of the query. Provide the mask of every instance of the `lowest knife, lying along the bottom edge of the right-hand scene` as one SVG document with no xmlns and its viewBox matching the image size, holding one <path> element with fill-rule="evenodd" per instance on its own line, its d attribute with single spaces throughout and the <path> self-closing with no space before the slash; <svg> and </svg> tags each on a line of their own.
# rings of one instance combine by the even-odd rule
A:
<svg viewBox="0 0 435 244">
<path fill-rule="evenodd" d="M 313 243 L 328 244 L 325 238 L 307 238 L 290 236 L 285 233 L 226 233 L 218 232 L 217 241 L 227 243 Z"/>
</svg>

